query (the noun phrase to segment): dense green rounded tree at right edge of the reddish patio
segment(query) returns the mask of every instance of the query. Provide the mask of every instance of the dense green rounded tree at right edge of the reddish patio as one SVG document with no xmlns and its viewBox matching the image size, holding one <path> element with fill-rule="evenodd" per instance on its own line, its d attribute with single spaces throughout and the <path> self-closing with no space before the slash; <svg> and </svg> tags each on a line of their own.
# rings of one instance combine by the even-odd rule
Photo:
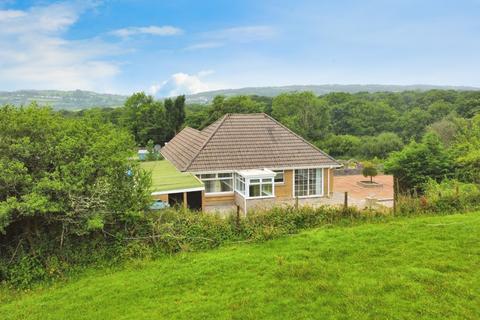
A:
<svg viewBox="0 0 480 320">
<path fill-rule="evenodd" d="M 451 177 L 453 160 L 438 136 L 429 132 L 420 143 L 412 141 L 402 151 L 392 153 L 384 169 L 399 179 L 402 190 L 421 191 L 428 179 Z"/>
</svg>

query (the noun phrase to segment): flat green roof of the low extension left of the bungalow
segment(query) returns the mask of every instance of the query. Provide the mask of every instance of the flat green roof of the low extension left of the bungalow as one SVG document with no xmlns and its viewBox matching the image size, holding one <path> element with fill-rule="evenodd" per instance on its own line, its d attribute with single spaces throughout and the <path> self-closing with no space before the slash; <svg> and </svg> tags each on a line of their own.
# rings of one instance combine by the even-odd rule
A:
<svg viewBox="0 0 480 320">
<path fill-rule="evenodd" d="M 167 160 L 141 162 L 140 166 L 152 173 L 152 192 L 203 187 L 195 176 L 178 171 Z"/>
</svg>

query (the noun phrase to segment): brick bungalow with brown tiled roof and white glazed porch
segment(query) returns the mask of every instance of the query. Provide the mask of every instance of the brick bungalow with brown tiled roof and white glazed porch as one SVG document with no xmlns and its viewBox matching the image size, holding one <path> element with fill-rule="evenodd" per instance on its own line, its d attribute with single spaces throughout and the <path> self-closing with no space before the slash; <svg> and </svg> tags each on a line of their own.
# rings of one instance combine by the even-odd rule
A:
<svg viewBox="0 0 480 320">
<path fill-rule="evenodd" d="M 216 210 L 321 202 L 341 165 L 270 116 L 227 114 L 199 131 L 185 128 L 160 151 L 204 184 L 202 208 Z"/>
</svg>

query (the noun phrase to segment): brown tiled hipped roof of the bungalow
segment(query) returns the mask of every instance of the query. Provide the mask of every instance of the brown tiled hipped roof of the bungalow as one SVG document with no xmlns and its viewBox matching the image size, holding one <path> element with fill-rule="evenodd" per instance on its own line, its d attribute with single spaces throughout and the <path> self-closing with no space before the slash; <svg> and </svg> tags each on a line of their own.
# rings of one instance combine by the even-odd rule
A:
<svg viewBox="0 0 480 320">
<path fill-rule="evenodd" d="M 227 114 L 198 131 L 185 128 L 161 153 L 181 171 L 339 166 L 263 113 Z"/>
</svg>

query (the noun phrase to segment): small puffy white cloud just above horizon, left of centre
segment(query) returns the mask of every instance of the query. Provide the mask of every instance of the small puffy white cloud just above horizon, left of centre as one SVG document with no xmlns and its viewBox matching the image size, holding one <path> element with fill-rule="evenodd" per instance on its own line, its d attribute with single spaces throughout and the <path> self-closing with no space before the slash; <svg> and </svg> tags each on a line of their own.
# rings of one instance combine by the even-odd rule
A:
<svg viewBox="0 0 480 320">
<path fill-rule="evenodd" d="M 224 86 L 218 83 L 205 81 L 204 77 L 211 75 L 213 70 L 200 71 L 197 74 L 178 72 L 172 74 L 168 80 L 150 86 L 150 94 L 161 97 L 172 97 L 182 94 L 193 94 L 203 91 L 220 89 Z"/>
</svg>

